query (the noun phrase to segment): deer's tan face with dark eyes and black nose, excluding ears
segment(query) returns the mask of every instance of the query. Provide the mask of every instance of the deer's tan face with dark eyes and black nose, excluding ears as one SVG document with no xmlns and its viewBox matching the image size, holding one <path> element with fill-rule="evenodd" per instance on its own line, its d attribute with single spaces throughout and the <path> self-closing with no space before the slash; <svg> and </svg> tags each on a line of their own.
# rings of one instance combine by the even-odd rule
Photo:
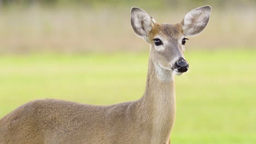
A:
<svg viewBox="0 0 256 144">
<path fill-rule="evenodd" d="M 155 23 L 149 33 L 150 58 L 161 68 L 174 71 L 177 75 L 184 73 L 188 70 L 188 63 L 183 55 L 185 40 L 180 23 L 174 25 Z M 184 68 L 179 68 L 177 62 L 182 60 Z"/>
</svg>

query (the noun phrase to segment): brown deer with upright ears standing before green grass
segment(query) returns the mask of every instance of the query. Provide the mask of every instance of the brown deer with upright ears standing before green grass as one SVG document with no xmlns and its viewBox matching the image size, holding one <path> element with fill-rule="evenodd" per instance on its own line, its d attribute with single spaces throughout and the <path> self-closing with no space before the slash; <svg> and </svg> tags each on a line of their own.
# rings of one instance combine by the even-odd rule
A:
<svg viewBox="0 0 256 144">
<path fill-rule="evenodd" d="M 189 69 L 187 37 L 199 35 L 211 6 L 191 10 L 180 23 L 160 24 L 131 8 L 135 34 L 150 44 L 146 89 L 135 101 L 88 105 L 65 100 L 30 101 L 0 120 L 0 143 L 171 143 L 176 114 L 174 75 Z"/>
</svg>

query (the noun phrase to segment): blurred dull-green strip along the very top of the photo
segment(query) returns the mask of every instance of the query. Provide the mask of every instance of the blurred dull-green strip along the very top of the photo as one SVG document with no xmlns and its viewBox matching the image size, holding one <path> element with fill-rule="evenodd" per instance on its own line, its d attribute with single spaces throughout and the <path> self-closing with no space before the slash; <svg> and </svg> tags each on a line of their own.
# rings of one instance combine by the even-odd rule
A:
<svg viewBox="0 0 256 144">
<path fill-rule="evenodd" d="M 211 5 L 217 6 L 218 8 L 225 7 L 241 7 L 243 5 L 255 5 L 255 0 L 158 0 L 158 1 L 145 1 L 145 0 L 0 0 L 0 7 L 7 7 L 8 5 L 33 5 L 42 4 L 46 6 L 56 6 L 56 5 L 130 5 L 130 4 L 143 4 L 145 7 L 151 8 L 168 8 L 173 5 L 189 5 L 194 7 L 195 5 L 203 5 L 210 3 Z"/>
</svg>

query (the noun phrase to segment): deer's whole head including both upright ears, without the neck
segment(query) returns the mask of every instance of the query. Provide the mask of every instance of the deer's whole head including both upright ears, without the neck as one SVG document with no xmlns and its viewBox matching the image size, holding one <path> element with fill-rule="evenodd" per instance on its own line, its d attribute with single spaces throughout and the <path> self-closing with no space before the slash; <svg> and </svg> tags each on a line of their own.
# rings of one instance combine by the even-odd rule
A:
<svg viewBox="0 0 256 144">
<path fill-rule="evenodd" d="M 146 11 L 133 7 L 131 25 L 135 34 L 150 44 L 150 59 L 155 67 L 181 75 L 189 66 L 183 55 L 185 37 L 194 37 L 205 29 L 211 10 L 210 5 L 196 8 L 181 23 L 171 25 L 156 23 Z"/>
</svg>

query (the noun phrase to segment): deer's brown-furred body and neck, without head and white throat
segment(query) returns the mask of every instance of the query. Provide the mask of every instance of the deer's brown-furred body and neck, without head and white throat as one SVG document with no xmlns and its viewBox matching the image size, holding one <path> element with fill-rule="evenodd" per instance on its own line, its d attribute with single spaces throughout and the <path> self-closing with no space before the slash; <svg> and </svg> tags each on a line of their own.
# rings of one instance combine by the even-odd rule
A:
<svg viewBox="0 0 256 144">
<path fill-rule="evenodd" d="M 159 101 L 164 113 L 156 111 Z M 0 120 L 0 143 L 166 143 L 174 121 L 174 101 L 174 83 L 160 82 L 149 60 L 141 99 L 110 106 L 31 101 Z M 159 128 L 154 127 L 155 119 Z"/>
</svg>

